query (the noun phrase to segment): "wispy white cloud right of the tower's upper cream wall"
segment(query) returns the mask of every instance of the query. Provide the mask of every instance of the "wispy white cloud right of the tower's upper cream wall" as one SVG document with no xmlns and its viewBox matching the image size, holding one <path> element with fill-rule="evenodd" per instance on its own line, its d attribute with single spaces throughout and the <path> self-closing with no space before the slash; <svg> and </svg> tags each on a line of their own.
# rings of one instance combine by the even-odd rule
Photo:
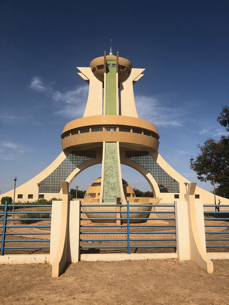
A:
<svg viewBox="0 0 229 305">
<path fill-rule="evenodd" d="M 184 111 L 181 108 L 163 107 L 158 99 L 144 95 L 137 95 L 135 104 L 138 116 L 144 120 L 151 121 L 156 126 L 182 126 Z"/>
</svg>

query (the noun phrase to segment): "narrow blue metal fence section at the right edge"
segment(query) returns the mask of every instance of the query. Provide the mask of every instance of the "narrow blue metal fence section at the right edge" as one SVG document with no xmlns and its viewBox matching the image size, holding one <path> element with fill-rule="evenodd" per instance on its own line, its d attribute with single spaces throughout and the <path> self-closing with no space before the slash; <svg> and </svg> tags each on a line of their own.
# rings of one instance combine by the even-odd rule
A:
<svg viewBox="0 0 229 305">
<path fill-rule="evenodd" d="M 215 211 L 206 211 L 205 207 L 209 207 L 211 209 L 209 210 L 215 210 Z M 229 205 L 204 205 L 204 215 L 205 215 L 205 236 L 206 236 L 206 249 L 207 251 L 215 251 L 219 252 L 226 251 L 226 248 L 229 250 L 229 211 L 228 211 Z M 224 211 L 216 211 L 216 210 L 222 210 Z M 223 217 L 220 217 L 222 215 Z M 207 218 L 206 216 L 209 216 Z M 212 218 L 211 218 L 212 216 Z M 214 217 L 216 216 L 216 217 Z M 226 217 L 225 217 L 226 216 Z M 217 224 L 211 224 L 211 222 L 218 222 Z M 207 222 L 207 224 L 206 224 Z M 220 223 L 219 223 L 220 222 Z M 219 228 L 218 231 L 208 231 L 208 228 Z M 214 230 L 214 229 L 213 229 Z M 217 245 L 215 243 L 218 243 Z"/>
</svg>

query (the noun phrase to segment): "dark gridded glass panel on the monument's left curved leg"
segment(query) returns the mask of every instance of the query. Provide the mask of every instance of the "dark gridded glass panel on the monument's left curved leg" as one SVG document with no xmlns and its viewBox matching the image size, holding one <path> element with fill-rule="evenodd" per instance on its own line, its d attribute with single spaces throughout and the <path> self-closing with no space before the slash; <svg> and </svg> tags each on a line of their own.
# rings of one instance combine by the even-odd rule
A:
<svg viewBox="0 0 229 305">
<path fill-rule="evenodd" d="M 59 193 L 61 181 L 65 181 L 76 167 L 93 158 L 96 158 L 95 151 L 72 151 L 52 174 L 40 182 L 39 192 Z"/>
</svg>

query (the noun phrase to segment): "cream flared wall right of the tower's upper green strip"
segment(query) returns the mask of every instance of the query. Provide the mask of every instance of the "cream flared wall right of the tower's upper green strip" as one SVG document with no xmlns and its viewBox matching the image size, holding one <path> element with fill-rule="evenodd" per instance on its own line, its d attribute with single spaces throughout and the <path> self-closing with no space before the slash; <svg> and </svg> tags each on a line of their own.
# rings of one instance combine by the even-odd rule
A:
<svg viewBox="0 0 229 305">
<path fill-rule="evenodd" d="M 120 115 L 138 118 L 135 107 L 134 94 L 133 94 L 133 81 L 139 80 L 140 74 L 144 70 L 145 69 L 132 68 L 129 76 L 124 81 L 120 82 L 119 84 Z"/>
</svg>

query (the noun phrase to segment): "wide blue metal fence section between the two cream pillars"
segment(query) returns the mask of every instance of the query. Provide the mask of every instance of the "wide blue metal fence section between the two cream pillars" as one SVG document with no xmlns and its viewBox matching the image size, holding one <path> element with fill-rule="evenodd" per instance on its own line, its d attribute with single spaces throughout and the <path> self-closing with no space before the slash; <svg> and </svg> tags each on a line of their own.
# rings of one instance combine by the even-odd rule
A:
<svg viewBox="0 0 229 305">
<path fill-rule="evenodd" d="M 126 211 L 81 211 L 81 221 L 104 221 L 106 220 L 106 224 L 81 224 L 81 238 L 80 238 L 80 249 L 81 253 L 85 251 L 86 253 L 94 253 L 93 251 L 97 250 L 97 253 L 101 253 L 102 249 L 110 249 L 111 253 L 114 253 L 112 249 L 118 251 L 125 251 L 128 254 L 130 252 L 136 253 L 139 249 L 144 249 L 144 251 L 155 252 L 161 251 L 166 252 L 166 249 L 173 249 L 176 252 L 176 225 L 175 225 L 175 217 L 173 218 L 152 218 L 151 215 L 153 213 L 156 214 L 175 214 L 174 205 L 151 205 L 151 204 L 82 204 L 82 208 L 84 207 L 126 207 Z M 130 210 L 131 207 L 131 210 Z M 167 207 L 173 211 L 139 211 L 133 210 L 134 207 Z M 126 217 L 123 218 L 84 218 L 82 214 L 90 214 L 90 213 L 103 213 L 103 214 L 125 214 Z M 144 213 L 150 214 L 149 217 L 140 217 L 140 218 L 132 218 L 132 213 Z M 117 215 L 115 215 L 117 217 Z M 143 221 L 169 221 L 173 222 L 173 224 L 143 224 Z M 109 221 L 121 221 L 125 222 L 122 224 L 111 224 Z M 138 224 L 132 224 L 131 221 L 138 221 Z M 95 228 L 93 231 L 88 231 L 89 228 Z M 103 231 L 104 228 L 110 228 L 110 231 Z M 163 231 L 164 229 L 171 229 L 171 231 Z M 112 230 L 113 229 L 113 230 Z M 119 231 L 114 231 L 115 229 L 119 229 Z M 141 231 L 143 229 L 143 231 Z M 147 231 L 146 231 L 147 230 Z M 155 231 L 154 231 L 155 230 Z M 162 235 L 174 235 L 174 238 L 160 238 Z M 92 235 L 92 236 L 90 236 Z M 95 235 L 103 235 L 103 238 L 91 238 Z M 124 235 L 124 238 L 112 238 L 112 235 Z M 141 235 L 142 238 L 136 238 L 134 235 Z M 149 235 L 151 235 L 149 237 Z M 85 239 L 83 237 L 88 236 L 89 238 Z M 111 236 L 111 237 L 110 237 Z M 133 237 L 134 236 L 134 237 Z M 157 238 L 159 236 L 159 238 Z M 105 237 L 105 238 L 104 238 Z M 109 238 L 110 237 L 110 238 Z M 154 237 L 154 238 L 151 238 Z M 95 243 L 95 246 L 85 245 L 85 243 Z M 103 243 L 101 245 L 101 243 Z M 121 243 L 121 244 L 120 244 Z M 143 244 L 144 243 L 144 244 Z M 147 244 L 147 245 L 146 245 Z M 107 251 L 107 250 L 106 250 Z"/>
</svg>

